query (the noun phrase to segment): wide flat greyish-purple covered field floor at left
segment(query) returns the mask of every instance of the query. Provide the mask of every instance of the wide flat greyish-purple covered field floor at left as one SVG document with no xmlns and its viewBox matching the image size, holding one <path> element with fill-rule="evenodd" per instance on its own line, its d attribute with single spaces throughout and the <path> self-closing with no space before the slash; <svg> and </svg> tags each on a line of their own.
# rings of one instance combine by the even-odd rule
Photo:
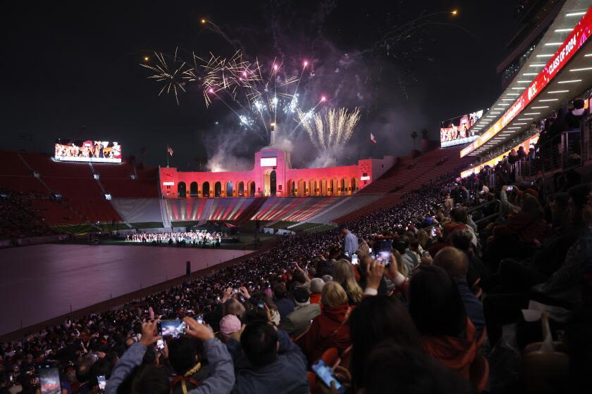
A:
<svg viewBox="0 0 592 394">
<path fill-rule="evenodd" d="M 0 250 L 0 335 L 252 250 L 44 244 Z"/>
</svg>

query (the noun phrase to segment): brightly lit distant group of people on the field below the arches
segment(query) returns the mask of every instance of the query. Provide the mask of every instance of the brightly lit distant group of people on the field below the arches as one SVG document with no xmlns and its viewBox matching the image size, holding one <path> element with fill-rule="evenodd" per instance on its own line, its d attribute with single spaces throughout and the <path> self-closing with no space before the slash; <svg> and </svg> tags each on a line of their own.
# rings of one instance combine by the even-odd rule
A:
<svg viewBox="0 0 592 394">
<path fill-rule="evenodd" d="M 139 231 L 136 234 L 127 234 L 126 242 L 140 242 L 168 245 L 216 245 L 220 246 L 220 241 L 226 234 L 218 231 L 192 230 L 192 231 L 168 231 L 162 233 L 149 233 Z"/>
</svg>

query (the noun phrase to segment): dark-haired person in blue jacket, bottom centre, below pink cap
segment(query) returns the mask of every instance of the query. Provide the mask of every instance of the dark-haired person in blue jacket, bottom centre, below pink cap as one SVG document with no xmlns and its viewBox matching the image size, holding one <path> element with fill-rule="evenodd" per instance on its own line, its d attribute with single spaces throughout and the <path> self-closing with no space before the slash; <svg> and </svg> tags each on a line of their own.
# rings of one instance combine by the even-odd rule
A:
<svg viewBox="0 0 592 394">
<path fill-rule="evenodd" d="M 233 393 L 309 393 L 306 359 L 285 331 L 247 324 L 240 344 L 252 367 L 238 371 Z"/>
</svg>

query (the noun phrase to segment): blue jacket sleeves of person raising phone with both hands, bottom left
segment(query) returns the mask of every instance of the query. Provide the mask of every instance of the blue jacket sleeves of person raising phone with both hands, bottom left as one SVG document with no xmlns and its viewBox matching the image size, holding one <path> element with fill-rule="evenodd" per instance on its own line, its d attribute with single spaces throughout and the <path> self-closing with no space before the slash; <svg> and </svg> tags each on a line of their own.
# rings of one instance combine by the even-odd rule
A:
<svg viewBox="0 0 592 394">
<path fill-rule="evenodd" d="M 211 376 L 201 382 L 199 387 L 187 392 L 187 394 L 227 394 L 235 383 L 233 360 L 226 349 L 226 345 L 216 338 L 204 342 L 206 357 L 210 365 Z M 146 353 L 146 346 L 142 343 L 134 343 L 125 350 L 123 357 L 111 372 L 111 378 L 105 388 L 106 394 L 117 394 L 117 388 L 134 367 L 142 364 Z"/>
</svg>

